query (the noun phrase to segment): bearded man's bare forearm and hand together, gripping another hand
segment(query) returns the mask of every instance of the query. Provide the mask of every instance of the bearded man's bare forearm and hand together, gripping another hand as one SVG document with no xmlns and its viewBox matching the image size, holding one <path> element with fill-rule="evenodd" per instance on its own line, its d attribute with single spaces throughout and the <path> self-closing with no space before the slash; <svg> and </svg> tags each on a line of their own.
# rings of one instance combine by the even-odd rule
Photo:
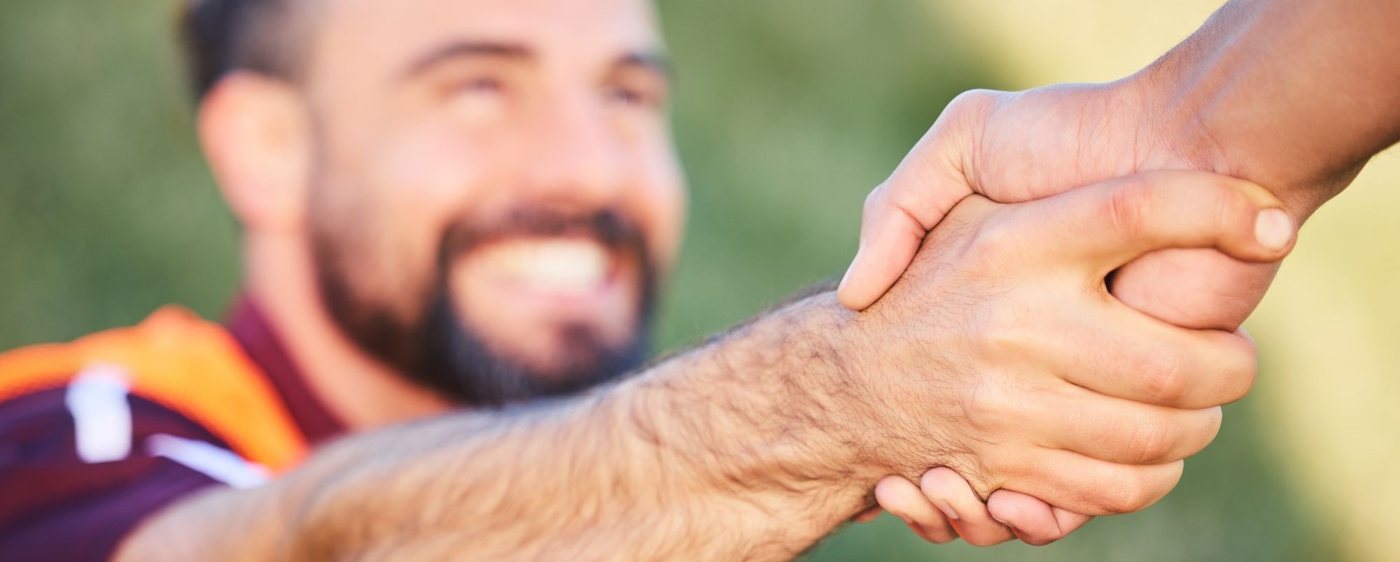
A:
<svg viewBox="0 0 1400 562">
<path fill-rule="evenodd" d="M 178 503 L 118 559 L 790 559 L 928 463 L 1138 510 L 1215 436 L 1254 350 L 1141 315 L 1103 275 L 1161 247 L 1282 257 L 1291 236 L 1256 239 L 1261 194 L 1172 172 L 969 199 L 867 312 L 820 292 L 585 396 L 350 436 Z"/>
</svg>

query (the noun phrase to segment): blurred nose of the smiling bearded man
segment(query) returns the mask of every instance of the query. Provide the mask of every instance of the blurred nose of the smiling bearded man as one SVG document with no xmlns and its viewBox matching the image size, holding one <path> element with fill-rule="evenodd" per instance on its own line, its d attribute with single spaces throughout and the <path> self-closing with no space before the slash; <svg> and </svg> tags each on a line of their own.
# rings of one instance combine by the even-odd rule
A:
<svg viewBox="0 0 1400 562">
<path fill-rule="evenodd" d="M 592 99 L 591 99 L 592 98 Z M 542 112 L 529 164 L 529 187 L 556 203 L 585 208 L 616 203 L 627 189 L 627 147 L 596 96 L 573 95 Z"/>
</svg>

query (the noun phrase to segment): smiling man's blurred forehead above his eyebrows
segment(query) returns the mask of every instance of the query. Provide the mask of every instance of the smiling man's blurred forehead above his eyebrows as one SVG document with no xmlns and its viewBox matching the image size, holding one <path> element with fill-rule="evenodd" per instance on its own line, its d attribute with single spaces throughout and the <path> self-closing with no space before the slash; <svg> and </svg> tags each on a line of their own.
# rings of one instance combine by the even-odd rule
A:
<svg viewBox="0 0 1400 562">
<path fill-rule="evenodd" d="M 322 0 L 311 17 L 314 67 L 361 73 L 463 39 L 517 43 L 545 59 L 661 49 L 648 0 Z"/>
</svg>

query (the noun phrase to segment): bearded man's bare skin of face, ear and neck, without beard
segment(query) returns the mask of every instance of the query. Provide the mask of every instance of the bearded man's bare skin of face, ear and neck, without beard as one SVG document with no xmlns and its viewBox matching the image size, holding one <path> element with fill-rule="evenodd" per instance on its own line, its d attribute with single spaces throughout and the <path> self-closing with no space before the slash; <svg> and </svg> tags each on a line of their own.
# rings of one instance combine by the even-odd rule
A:
<svg viewBox="0 0 1400 562">
<path fill-rule="evenodd" d="M 356 428 L 451 404 L 405 384 L 326 315 L 311 249 L 318 214 L 344 222 L 347 236 L 368 233 L 350 242 L 353 285 L 405 320 L 421 313 L 438 239 L 458 221 L 546 203 L 612 208 L 638 225 L 659 270 L 679 247 L 668 80 L 638 63 L 661 53 L 650 8 L 490 4 L 321 3 L 297 84 L 235 73 L 200 108 L 210 165 L 246 229 L 245 285 L 316 393 Z M 620 266 L 610 291 L 561 306 L 473 275 L 472 257 L 451 264 L 448 282 L 459 317 L 498 354 L 549 369 L 566 359 L 553 326 L 584 320 L 610 340 L 637 330 L 636 263 Z"/>
</svg>

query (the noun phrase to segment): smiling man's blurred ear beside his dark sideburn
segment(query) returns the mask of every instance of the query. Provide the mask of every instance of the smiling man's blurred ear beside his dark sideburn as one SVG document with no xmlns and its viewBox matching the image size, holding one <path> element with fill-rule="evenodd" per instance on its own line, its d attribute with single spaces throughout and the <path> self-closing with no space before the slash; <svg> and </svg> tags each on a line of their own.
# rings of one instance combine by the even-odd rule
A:
<svg viewBox="0 0 1400 562">
<path fill-rule="evenodd" d="M 228 208 L 255 232 L 305 224 L 312 130 L 293 85 L 234 71 L 199 106 L 199 140 Z"/>
</svg>

